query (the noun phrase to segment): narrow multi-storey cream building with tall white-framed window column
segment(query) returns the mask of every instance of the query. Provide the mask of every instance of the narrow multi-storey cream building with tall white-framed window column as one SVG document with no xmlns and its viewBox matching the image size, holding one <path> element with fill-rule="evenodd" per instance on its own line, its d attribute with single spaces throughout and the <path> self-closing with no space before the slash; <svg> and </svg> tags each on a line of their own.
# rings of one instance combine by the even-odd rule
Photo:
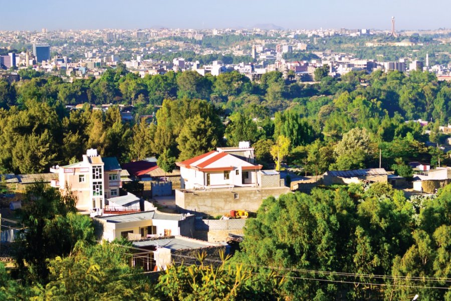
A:
<svg viewBox="0 0 451 301">
<path fill-rule="evenodd" d="M 66 187 L 78 197 L 78 210 L 105 208 L 105 200 L 119 196 L 121 167 L 116 158 L 102 158 L 97 149 L 88 149 L 83 161 L 67 166 L 56 166 L 51 173 L 59 175 L 51 182 L 52 187 Z"/>
</svg>

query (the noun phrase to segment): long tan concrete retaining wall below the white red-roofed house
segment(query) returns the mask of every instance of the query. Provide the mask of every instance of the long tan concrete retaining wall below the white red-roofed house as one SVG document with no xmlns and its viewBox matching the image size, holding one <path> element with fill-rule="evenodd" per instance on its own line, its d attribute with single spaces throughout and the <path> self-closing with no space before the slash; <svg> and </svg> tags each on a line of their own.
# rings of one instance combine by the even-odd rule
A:
<svg viewBox="0 0 451 301">
<path fill-rule="evenodd" d="M 288 193 L 288 187 L 257 188 L 257 189 L 232 189 L 195 191 L 183 193 L 175 191 L 175 204 L 182 212 L 205 213 L 218 215 L 230 210 L 248 210 L 256 212 L 263 200 L 270 197 L 278 197 Z"/>
</svg>

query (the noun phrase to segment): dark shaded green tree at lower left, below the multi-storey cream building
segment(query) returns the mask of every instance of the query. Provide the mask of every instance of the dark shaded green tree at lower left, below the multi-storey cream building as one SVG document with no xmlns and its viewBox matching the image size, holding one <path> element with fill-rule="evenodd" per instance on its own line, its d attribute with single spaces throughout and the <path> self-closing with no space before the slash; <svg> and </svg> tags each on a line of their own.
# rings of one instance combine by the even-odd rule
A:
<svg viewBox="0 0 451 301">
<path fill-rule="evenodd" d="M 22 269 L 32 268 L 35 280 L 46 279 L 47 258 L 68 255 L 79 241 L 93 242 L 91 220 L 76 213 L 76 202 L 69 187 L 64 194 L 45 184 L 27 188 L 22 218 L 27 231 L 16 259 Z"/>
</svg>

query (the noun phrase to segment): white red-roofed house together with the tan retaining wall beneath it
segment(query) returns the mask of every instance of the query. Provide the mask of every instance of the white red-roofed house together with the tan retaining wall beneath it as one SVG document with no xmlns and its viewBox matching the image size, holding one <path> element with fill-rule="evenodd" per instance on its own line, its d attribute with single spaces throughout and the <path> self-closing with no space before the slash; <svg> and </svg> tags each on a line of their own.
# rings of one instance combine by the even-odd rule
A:
<svg viewBox="0 0 451 301">
<path fill-rule="evenodd" d="M 256 211 L 263 199 L 289 191 L 278 172 L 264 171 L 254 160 L 254 148 L 240 142 L 239 147 L 221 147 L 177 162 L 181 189 L 175 191 L 176 206 L 208 214 Z"/>
</svg>

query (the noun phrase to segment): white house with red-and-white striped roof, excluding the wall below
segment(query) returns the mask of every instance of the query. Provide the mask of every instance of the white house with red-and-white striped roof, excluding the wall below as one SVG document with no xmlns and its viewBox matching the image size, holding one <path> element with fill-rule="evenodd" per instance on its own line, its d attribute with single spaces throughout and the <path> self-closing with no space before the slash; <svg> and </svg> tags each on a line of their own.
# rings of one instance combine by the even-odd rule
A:
<svg viewBox="0 0 451 301">
<path fill-rule="evenodd" d="M 239 149 L 239 148 L 238 148 Z M 206 154 L 177 162 L 181 189 L 259 187 L 262 165 L 254 158 L 232 155 L 236 147 L 218 148 Z M 245 160 L 246 159 L 246 160 Z"/>
</svg>

